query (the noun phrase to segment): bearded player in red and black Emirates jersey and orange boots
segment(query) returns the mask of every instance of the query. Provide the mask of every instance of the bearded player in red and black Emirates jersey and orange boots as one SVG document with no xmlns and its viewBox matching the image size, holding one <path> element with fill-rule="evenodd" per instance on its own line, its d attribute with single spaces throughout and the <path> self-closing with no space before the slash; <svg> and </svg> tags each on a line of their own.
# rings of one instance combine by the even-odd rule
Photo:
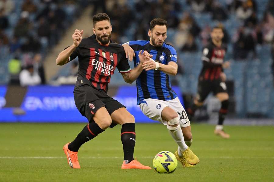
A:
<svg viewBox="0 0 274 182">
<path fill-rule="evenodd" d="M 79 69 L 74 99 L 77 109 L 85 116 L 87 124 L 78 136 L 63 147 L 71 168 L 80 168 L 78 150 L 83 143 L 104 132 L 108 127 L 121 124 L 121 141 L 124 149 L 122 169 L 151 169 L 133 159 L 135 147 L 135 120 L 125 108 L 107 95 L 107 85 L 117 67 L 123 78 L 136 79 L 135 69 L 130 69 L 122 45 L 111 41 L 110 18 L 105 13 L 93 16 L 93 35 L 82 39 L 83 30 L 72 34 L 73 44 L 65 48 L 56 63 L 64 65 L 79 58 Z M 139 52 L 145 61 L 144 52 Z"/>
</svg>

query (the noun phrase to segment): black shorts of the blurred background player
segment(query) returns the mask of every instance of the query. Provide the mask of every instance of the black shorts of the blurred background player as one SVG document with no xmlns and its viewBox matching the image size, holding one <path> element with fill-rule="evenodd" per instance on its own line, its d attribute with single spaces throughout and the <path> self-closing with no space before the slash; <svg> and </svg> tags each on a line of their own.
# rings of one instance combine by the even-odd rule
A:
<svg viewBox="0 0 274 182">
<path fill-rule="evenodd" d="M 222 82 L 221 79 L 199 80 L 198 93 L 196 96 L 198 102 L 204 102 L 210 92 L 213 92 L 214 95 L 221 92 L 227 93 L 226 83 Z"/>
</svg>

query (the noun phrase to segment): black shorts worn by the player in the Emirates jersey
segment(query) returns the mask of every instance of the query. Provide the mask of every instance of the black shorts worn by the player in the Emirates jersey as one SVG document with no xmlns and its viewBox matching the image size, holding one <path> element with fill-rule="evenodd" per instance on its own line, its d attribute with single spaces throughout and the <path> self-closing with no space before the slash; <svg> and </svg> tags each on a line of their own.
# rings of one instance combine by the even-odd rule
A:
<svg viewBox="0 0 274 182">
<path fill-rule="evenodd" d="M 90 85 L 83 85 L 74 89 L 74 101 L 82 116 L 89 122 L 93 122 L 93 115 L 101 107 L 105 107 L 109 115 L 121 107 L 123 104 L 108 96 L 104 91 L 95 89 Z"/>
</svg>

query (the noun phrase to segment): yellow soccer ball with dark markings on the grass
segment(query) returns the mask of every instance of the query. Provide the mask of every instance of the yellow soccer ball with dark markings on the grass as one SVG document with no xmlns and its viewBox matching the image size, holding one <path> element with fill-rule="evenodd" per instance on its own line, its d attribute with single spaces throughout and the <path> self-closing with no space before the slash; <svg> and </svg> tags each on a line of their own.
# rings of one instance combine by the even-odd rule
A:
<svg viewBox="0 0 274 182">
<path fill-rule="evenodd" d="M 158 173 L 173 173 L 177 164 L 175 155 L 169 151 L 159 152 L 153 159 L 153 167 Z"/>
</svg>

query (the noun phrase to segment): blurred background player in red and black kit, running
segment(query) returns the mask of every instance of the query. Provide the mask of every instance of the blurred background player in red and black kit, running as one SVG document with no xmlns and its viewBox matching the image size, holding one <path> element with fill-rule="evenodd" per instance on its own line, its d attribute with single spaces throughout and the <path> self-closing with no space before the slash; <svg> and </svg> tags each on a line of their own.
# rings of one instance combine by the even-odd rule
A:
<svg viewBox="0 0 274 182">
<path fill-rule="evenodd" d="M 219 121 L 214 133 L 223 138 L 229 138 L 229 134 L 223 131 L 223 121 L 227 115 L 229 99 L 225 84 L 226 75 L 223 69 L 230 67 L 230 62 L 223 60 L 227 50 L 227 47 L 222 43 L 223 30 L 220 27 L 214 27 L 211 39 L 212 42 L 203 49 L 203 67 L 198 78 L 198 92 L 194 103 L 188 108 L 188 115 L 193 117 L 195 110 L 202 106 L 208 94 L 213 92 L 221 102 Z"/>
</svg>

